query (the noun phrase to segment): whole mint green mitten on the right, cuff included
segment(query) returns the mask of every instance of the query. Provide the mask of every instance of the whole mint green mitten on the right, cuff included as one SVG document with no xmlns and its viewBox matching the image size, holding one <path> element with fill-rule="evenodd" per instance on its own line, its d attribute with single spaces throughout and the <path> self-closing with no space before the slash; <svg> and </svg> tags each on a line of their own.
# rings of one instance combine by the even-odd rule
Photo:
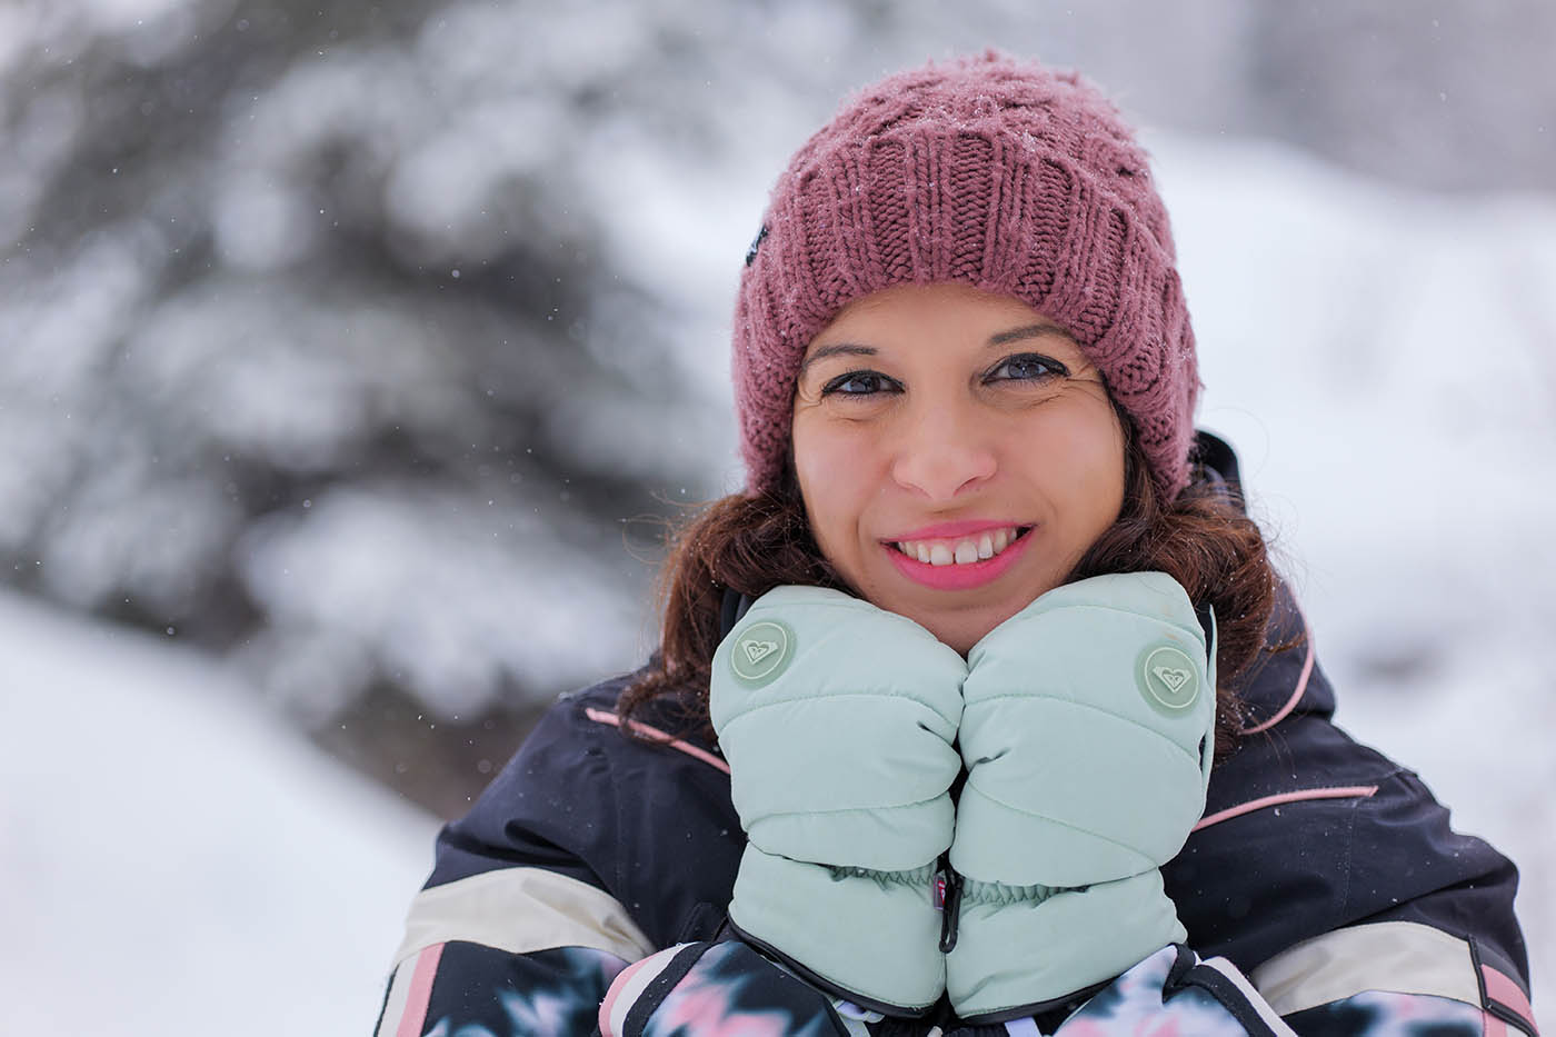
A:
<svg viewBox="0 0 1556 1037">
<path fill-rule="evenodd" d="M 1064 998 L 1183 940 L 1162 891 L 1204 810 L 1214 645 L 1164 573 L 1058 587 L 968 654 L 946 962 L 963 1018 Z"/>
</svg>

